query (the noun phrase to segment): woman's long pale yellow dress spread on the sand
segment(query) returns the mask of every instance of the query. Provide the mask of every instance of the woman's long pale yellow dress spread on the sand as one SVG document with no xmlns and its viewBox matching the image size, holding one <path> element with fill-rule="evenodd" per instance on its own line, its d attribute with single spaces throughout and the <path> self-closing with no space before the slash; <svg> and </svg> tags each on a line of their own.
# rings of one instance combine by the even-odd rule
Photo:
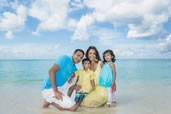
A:
<svg viewBox="0 0 171 114">
<path fill-rule="evenodd" d="M 81 106 L 100 107 L 107 102 L 107 91 L 105 87 L 99 85 L 99 76 L 101 71 L 101 61 L 98 62 L 95 71 L 95 91 L 90 92 L 81 103 Z"/>
</svg>

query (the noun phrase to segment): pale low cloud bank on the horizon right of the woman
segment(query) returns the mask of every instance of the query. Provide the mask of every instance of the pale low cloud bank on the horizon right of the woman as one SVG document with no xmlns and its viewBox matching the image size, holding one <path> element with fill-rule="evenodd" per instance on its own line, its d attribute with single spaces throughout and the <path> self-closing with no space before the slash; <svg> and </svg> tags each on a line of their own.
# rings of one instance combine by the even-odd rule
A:
<svg viewBox="0 0 171 114">
<path fill-rule="evenodd" d="M 112 41 L 111 41 L 112 42 Z M 161 59 L 170 58 L 171 54 L 161 54 L 158 44 L 154 43 L 115 43 L 109 45 L 100 45 L 101 49 L 112 49 L 118 59 Z"/>
</svg>

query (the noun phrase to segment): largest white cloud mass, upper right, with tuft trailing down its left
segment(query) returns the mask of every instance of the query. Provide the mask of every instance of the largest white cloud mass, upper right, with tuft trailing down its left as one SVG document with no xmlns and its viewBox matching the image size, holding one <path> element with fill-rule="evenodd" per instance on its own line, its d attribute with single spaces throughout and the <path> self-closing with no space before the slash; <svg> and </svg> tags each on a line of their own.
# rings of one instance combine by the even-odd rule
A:
<svg viewBox="0 0 171 114">
<path fill-rule="evenodd" d="M 126 25 L 128 38 L 144 38 L 162 33 L 162 24 L 171 16 L 170 0 L 86 0 L 85 5 L 94 11 L 84 17 L 92 16 L 97 22 L 109 22 L 114 27 Z M 73 39 L 88 39 L 87 27 L 91 24 L 81 18 Z"/>
</svg>

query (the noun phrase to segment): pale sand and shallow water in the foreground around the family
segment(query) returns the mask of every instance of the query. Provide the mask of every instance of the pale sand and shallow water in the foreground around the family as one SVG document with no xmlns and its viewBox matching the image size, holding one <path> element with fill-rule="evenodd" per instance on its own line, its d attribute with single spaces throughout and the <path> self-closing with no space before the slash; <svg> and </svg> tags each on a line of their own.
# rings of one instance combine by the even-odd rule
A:
<svg viewBox="0 0 171 114">
<path fill-rule="evenodd" d="M 117 103 L 111 108 L 79 107 L 77 112 L 42 109 L 39 84 L 1 84 L 1 114 L 170 114 L 170 82 L 128 82 L 118 84 Z"/>
</svg>

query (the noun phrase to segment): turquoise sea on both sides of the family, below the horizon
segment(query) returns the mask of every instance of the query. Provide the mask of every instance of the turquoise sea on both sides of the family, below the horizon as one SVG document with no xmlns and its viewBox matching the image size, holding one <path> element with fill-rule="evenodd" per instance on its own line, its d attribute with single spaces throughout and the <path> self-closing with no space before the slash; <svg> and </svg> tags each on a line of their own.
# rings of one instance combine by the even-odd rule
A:
<svg viewBox="0 0 171 114">
<path fill-rule="evenodd" d="M 0 83 L 41 83 L 55 60 L 0 60 Z M 117 60 L 117 81 L 171 82 L 171 60 Z"/>
</svg>

